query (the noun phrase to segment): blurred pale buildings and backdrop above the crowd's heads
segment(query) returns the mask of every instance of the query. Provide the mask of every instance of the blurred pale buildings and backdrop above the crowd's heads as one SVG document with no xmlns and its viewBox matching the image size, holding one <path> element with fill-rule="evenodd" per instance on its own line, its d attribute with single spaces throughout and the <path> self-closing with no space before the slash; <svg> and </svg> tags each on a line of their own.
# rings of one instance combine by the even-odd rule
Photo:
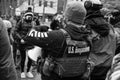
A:
<svg viewBox="0 0 120 80">
<path fill-rule="evenodd" d="M 0 0 L 1 16 L 20 16 L 28 7 L 32 7 L 33 12 L 42 21 L 49 22 L 55 13 L 63 13 L 67 2 L 81 0 Z M 114 9 L 120 5 L 120 0 L 101 0 L 104 7 Z"/>
</svg>

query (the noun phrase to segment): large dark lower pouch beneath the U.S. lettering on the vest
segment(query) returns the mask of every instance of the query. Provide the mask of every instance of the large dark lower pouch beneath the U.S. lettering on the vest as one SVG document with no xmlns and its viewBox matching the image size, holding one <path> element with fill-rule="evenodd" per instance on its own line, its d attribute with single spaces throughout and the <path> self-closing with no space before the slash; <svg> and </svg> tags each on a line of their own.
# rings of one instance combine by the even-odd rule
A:
<svg viewBox="0 0 120 80">
<path fill-rule="evenodd" d="M 57 62 L 55 73 L 63 77 L 81 76 L 87 69 L 87 59 L 82 57 L 61 58 Z"/>
</svg>

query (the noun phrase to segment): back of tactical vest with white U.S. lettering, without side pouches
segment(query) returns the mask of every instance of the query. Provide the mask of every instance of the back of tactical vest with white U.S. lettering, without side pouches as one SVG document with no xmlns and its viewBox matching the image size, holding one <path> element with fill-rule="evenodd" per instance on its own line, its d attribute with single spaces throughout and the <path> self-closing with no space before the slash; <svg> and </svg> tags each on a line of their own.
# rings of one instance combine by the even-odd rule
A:
<svg viewBox="0 0 120 80">
<path fill-rule="evenodd" d="M 63 77 L 75 77 L 83 75 L 87 69 L 87 60 L 90 53 L 90 45 L 84 41 L 66 38 L 67 47 L 62 58 L 56 59 L 55 72 Z"/>
</svg>

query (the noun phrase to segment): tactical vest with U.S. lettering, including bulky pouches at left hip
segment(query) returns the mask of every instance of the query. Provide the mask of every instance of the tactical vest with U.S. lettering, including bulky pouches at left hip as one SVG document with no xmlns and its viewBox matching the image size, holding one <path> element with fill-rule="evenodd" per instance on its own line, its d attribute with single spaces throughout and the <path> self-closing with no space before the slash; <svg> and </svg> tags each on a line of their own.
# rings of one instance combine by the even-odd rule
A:
<svg viewBox="0 0 120 80">
<path fill-rule="evenodd" d="M 55 73 L 61 77 L 86 76 L 86 74 L 88 77 L 91 72 L 91 64 L 89 61 L 91 44 L 86 40 L 72 40 L 70 36 L 66 37 L 65 42 L 67 46 L 61 58 L 49 55 L 44 58 L 44 60 L 38 60 L 38 62 L 40 62 L 38 72 L 46 76 Z"/>
</svg>

